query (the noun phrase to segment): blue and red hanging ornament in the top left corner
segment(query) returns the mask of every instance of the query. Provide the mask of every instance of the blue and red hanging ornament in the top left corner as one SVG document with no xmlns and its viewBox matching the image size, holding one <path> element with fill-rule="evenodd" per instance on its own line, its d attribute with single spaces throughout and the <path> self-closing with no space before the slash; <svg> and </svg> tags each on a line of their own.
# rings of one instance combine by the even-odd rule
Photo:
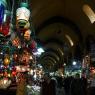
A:
<svg viewBox="0 0 95 95">
<path fill-rule="evenodd" d="M 0 0 L 0 35 L 9 35 L 10 29 L 10 12 L 6 10 L 6 0 Z"/>
</svg>

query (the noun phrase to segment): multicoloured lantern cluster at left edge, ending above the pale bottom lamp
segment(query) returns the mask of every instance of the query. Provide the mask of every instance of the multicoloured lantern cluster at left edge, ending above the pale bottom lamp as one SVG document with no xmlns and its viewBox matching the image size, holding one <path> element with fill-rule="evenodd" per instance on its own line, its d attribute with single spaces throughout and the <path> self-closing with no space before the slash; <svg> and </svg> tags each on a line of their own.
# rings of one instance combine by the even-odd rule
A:
<svg viewBox="0 0 95 95">
<path fill-rule="evenodd" d="M 10 46 L 0 46 L 0 78 L 11 77 L 12 72 L 16 72 L 11 51 L 12 48 Z"/>
</svg>

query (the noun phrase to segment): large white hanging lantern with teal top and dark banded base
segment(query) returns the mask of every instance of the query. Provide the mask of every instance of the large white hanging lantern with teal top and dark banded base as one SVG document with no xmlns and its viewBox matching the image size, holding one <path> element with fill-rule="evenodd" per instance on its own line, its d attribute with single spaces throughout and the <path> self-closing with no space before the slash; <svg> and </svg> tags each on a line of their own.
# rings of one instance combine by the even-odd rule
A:
<svg viewBox="0 0 95 95">
<path fill-rule="evenodd" d="M 28 4 L 22 2 L 20 8 L 16 10 L 16 25 L 20 30 L 28 29 L 30 27 L 29 17 L 30 10 L 27 8 Z"/>
</svg>

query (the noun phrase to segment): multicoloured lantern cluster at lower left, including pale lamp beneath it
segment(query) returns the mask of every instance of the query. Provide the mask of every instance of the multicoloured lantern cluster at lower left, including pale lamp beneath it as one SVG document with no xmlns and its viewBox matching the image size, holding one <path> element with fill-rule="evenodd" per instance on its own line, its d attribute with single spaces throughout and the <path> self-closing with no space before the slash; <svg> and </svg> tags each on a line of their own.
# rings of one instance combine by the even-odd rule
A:
<svg viewBox="0 0 95 95">
<path fill-rule="evenodd" d="M 0 45 L 0 88 L 7 88 L 17 75 L 10 46 Z"/>
</svg>

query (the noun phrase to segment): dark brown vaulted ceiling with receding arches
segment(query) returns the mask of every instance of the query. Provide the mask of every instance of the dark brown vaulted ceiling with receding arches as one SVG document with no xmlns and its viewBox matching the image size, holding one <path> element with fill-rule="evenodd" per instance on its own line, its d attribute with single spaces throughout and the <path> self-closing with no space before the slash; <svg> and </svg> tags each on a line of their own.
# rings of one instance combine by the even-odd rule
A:
<svg viewBox="0 0 95 95">
<path fill-rule="evenodd" d="M 88 5 L 94 12 L 94 0 L 29 0 L 29 5 L 35 39 L 45 49 L 39 63 L 52 68 L 69 64 L 72 57 L 80 60 L 88 52 L 87 42 L 95 37 L 95 23 L 83 8 Z"/>
</svg>

